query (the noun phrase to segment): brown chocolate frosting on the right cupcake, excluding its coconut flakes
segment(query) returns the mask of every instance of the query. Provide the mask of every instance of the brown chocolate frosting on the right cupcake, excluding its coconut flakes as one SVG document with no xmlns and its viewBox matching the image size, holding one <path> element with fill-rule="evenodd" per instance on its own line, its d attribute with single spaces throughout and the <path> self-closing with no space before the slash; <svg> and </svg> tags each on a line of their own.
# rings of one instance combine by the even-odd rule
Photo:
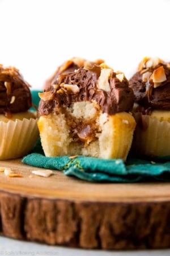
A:
<svg viewBox="0 0 170 256">
<path fill-rule="evenodd" d="M 134 90 L 135 102 L 149 113 L 154 109 L 170 110 L 170 69 L 169 64 L 159 63 L 158 65 L 146 68 L 146 72 L 153 73 L 155 69 L 163 66 L 166 80 L 154 88 L 152 76 L 147 81 L 142 80 L 145 68 L 136 72 L 129 80 L 129 86 Z"/>
</svg>

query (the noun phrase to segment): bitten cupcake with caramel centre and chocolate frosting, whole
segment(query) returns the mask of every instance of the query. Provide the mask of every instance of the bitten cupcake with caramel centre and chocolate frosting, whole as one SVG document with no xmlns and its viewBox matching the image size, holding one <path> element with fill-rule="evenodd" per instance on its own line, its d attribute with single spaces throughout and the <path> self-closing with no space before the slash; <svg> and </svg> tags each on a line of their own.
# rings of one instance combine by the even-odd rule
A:
<svg viewBox="0 0 170 256">
<path fill-rule="evenodd" d="M 126 160 L 135 119 L 124 73 L 94 64 L 59 74 L 39 93 L 38 127 L 46 156 Z"/>
</svg>

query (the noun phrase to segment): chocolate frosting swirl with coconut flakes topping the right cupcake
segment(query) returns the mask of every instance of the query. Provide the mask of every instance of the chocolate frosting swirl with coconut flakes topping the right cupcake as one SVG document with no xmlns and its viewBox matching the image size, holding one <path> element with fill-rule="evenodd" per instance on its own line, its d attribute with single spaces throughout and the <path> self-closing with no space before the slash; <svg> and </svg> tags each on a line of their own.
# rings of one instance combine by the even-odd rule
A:
<svg viewBox="0 0 170 256">
<path fill-rule="evenodd" d="M 130 78 L 129 86 L 134 91 L 135 102 L 145 109 L 145 113 L 154 109 L 170 110 L 169 63 L 145 57 Z"/>
</svg>

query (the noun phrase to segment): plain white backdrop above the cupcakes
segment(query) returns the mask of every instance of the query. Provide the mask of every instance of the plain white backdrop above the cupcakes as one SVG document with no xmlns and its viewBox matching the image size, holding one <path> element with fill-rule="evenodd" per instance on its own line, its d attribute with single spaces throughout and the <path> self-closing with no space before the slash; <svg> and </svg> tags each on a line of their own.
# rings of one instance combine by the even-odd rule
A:
<svg viewBox="0 0 170 256">
<path fill-rule="evenodd" d="M 70 57 L 129 79 L 145 56 L 170 61 L 169 0 L 0 0 L 0 63 L 42 89 Z"/>
</svg>

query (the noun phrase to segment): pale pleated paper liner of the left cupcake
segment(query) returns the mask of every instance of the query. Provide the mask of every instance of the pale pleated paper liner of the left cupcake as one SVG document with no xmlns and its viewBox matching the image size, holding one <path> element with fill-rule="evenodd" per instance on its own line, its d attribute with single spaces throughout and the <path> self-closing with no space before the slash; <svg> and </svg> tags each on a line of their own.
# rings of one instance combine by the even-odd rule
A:
<svg viewBox="0 0 170 256">
<path fill-rule="evenodd" d="M 20 158 L 32 150 L 39 137 L 37 119 L 0 121 L 0 133 L 0 159 Z"/>
</svg>

